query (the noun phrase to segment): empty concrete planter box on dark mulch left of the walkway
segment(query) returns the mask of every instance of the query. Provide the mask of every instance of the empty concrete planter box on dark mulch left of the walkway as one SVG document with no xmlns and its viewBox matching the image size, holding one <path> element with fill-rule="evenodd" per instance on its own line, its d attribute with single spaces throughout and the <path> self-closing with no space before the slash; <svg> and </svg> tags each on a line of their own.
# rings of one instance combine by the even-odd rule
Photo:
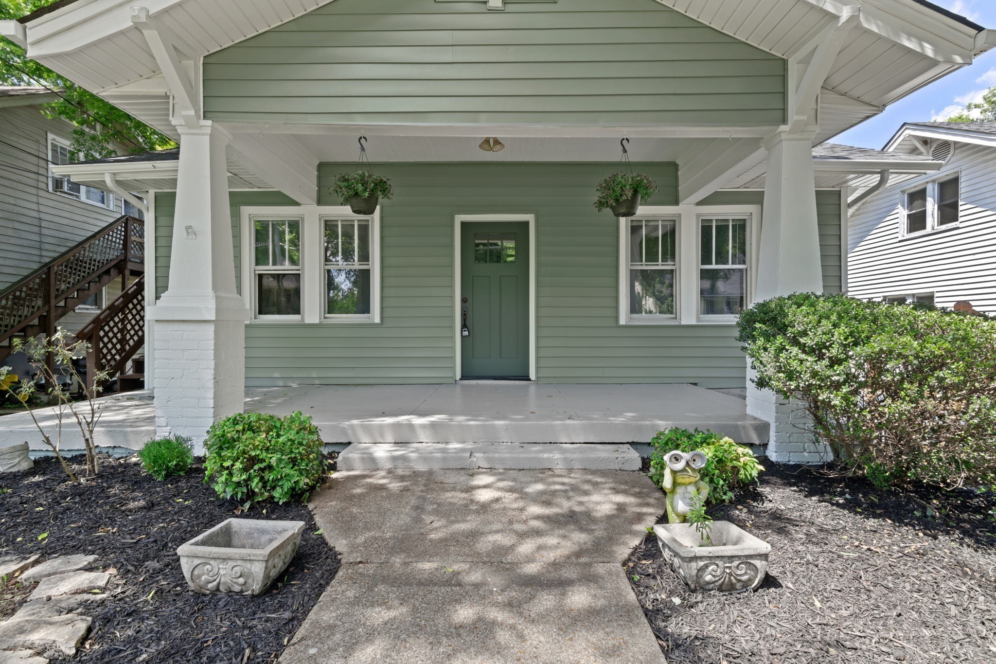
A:
<svg viewBox="0 0 996 664">
<path fill-rule="evenodd" d="M 176 554 L 197 592 L 258 595 L 298 553 L 304 530 L 303 521 L 228 519 L 181 545 Z"/>
</svg>

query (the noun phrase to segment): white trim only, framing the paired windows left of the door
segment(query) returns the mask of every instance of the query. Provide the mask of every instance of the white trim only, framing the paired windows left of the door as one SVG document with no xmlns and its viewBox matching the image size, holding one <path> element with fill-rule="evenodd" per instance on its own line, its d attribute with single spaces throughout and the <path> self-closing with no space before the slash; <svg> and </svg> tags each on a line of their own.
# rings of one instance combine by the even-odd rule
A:
<svg viewBox="0 0 996 664">
<path fill-rule="evenodd" d="M 371 314 L 327 316 L 325 314 L 325 219 L 370 219 L 371 222 Z M 254 278 L 253 222 L 255 219 L 301 220 L 301 316 L 257 316 Z M 358 215 L 347 206 L 285 205 L 244 206 L 239 210 L 240 290 L 250 311 L 249 325 L 327 324 L 379 325 L 380 323 L 380 207 L 373 215 Z"/>
</svg>

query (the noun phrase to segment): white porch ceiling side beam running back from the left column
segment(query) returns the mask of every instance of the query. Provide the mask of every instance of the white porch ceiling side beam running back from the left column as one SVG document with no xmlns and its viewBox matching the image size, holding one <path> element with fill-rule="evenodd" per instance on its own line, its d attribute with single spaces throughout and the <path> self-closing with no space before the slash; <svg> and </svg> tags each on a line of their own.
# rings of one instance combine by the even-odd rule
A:
<svg viewBox="0 0 996 664">
<path fill-rule="evenodd" d="M 302 205 L 316 205 L 318 157 L 288 138 L 290 136 L 233 134 L 228 143 L 228 156 Z"/>
</svg>

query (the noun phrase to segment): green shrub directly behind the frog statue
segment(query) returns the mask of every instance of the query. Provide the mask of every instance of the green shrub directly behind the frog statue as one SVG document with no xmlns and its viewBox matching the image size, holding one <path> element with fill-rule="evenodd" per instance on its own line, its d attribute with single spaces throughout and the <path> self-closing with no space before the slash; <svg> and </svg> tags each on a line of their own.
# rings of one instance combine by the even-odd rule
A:
<svg viewBox="0 0 996 664">
<path fill-rule="evenodd" d="M 664 481 L 664 461 L 668 452 L 703 452 L 708 460 L 700 470 L 699 479 L 709 485 L 709 503 L 727 503 L 733 492 L 757 481 L 758 473 L 764 470 L 749 447 L 737 445 L 711 431 L 688 431 L 688 429 L 668 429 L 661 431 L 653 440 L 653 453 L 650 454 L 650 479 L 658 487 Z"/>
</svg>

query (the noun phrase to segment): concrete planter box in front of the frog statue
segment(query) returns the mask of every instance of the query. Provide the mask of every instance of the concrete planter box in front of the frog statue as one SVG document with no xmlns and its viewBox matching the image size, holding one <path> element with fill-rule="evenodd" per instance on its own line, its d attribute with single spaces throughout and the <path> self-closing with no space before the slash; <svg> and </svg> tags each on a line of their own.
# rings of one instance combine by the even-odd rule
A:
<svg viewBox="0 0 996 664">
<path fill-rule="evenodd" d="M 754 590 L 768 573 L 771 545 L 728 521 L 713 522 L 713 547 L 699 546 L 692 524 L 657 524 L 653 534 L 664 560 L 692 590 Z"/>
</svg>

